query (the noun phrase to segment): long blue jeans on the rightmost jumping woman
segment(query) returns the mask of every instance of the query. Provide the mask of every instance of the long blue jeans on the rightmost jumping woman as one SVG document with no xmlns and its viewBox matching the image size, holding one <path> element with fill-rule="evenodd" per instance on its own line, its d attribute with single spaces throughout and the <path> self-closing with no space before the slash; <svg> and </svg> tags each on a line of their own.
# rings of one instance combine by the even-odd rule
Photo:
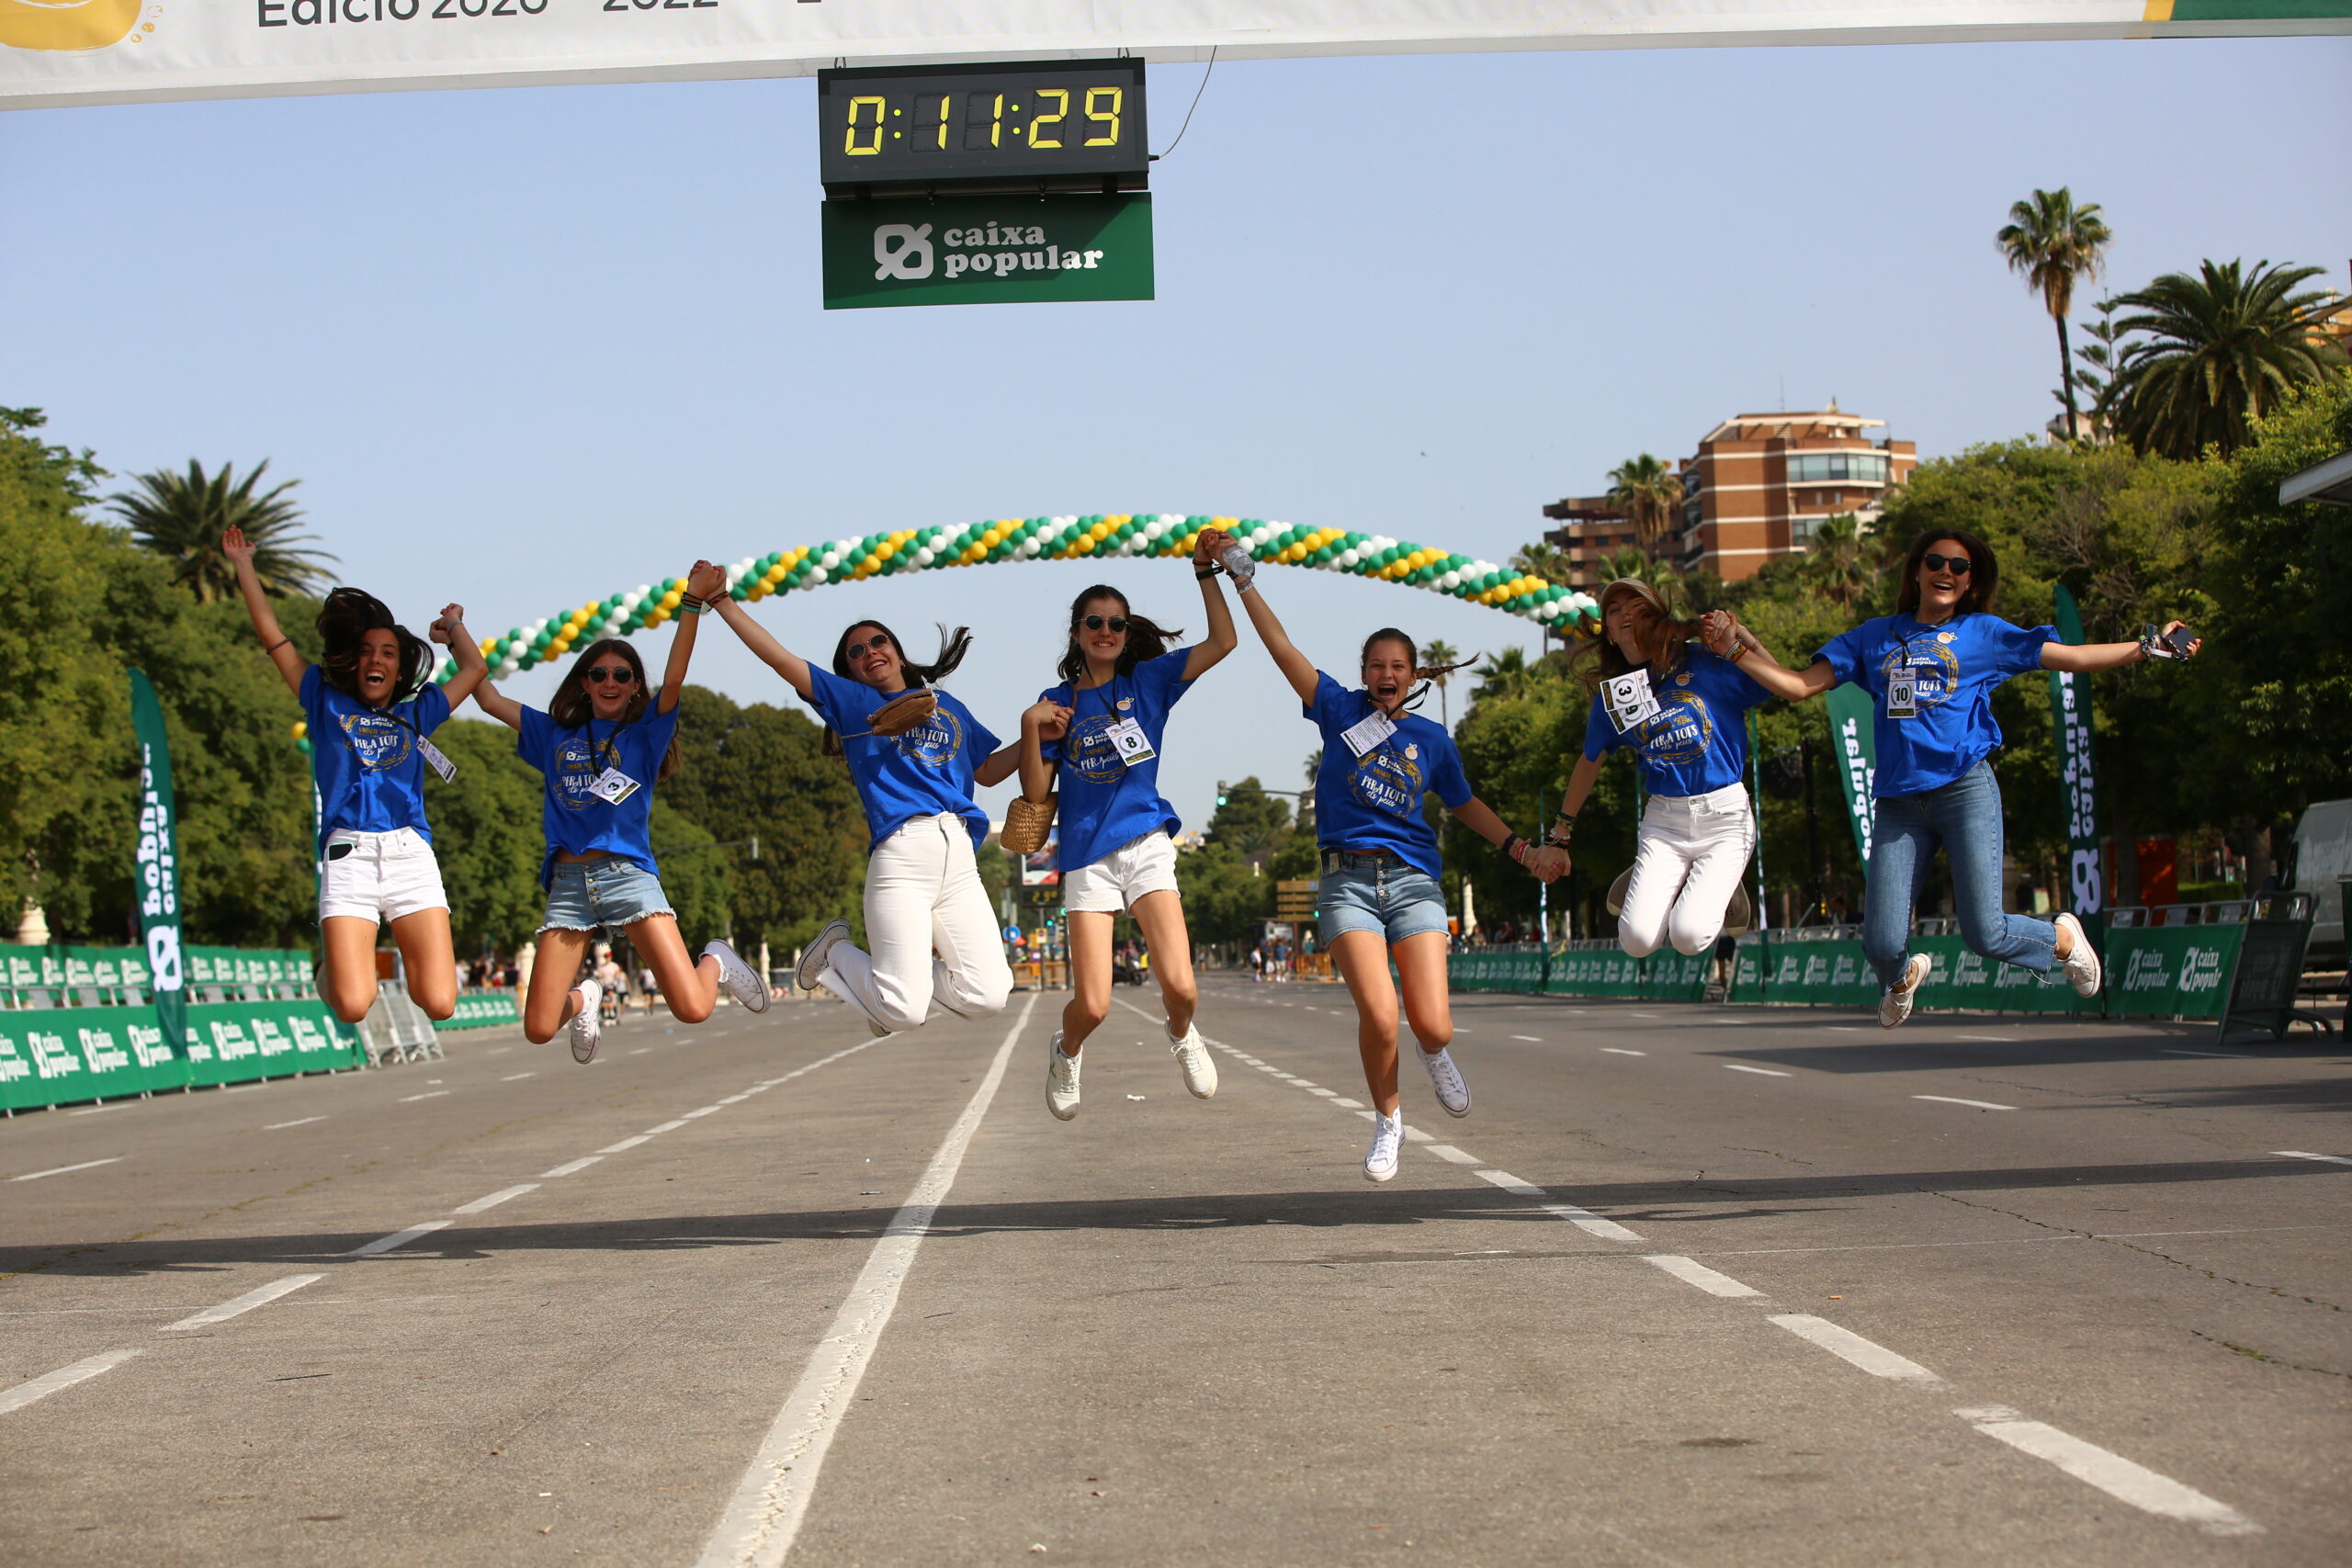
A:
<svg viewBox="0 0 2352 1568">
<path fill-rule="evenodd" d="M 1952 863 L 1959 940 L 2018 969 L 2056 964 L 2058 929 L 2002 912 L 2002 785 L 1978 762 L 1947 785 L 1877 802 L 1870 832 L 1870 889 L 1863 896 L 1863 957 L 1891 990 L 1910 961 L 1910 919 L 1926 863 L 1943 844 Z"/>
</svg>

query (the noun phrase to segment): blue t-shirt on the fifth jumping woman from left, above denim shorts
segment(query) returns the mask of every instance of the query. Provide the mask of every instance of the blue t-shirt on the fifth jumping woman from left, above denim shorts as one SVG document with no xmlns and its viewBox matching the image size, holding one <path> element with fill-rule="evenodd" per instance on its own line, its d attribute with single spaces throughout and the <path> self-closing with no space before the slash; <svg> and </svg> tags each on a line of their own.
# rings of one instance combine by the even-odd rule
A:
<svg viewBox="0 0 2352 1568">
<path fill-rule="evenodd" d="M 1449 809 L 1470 802 L 1454 736 L 1418 712 L 1397 712 L 1397 733 L 1357 757 L 1343 733 L 1376 710 L 1371 693 L 1350 691 L 1317 670 L 1315 701 L 1301 703 L 1324 736 L 1315 769 L 1315 837 L 1324 849 L 1388 849 L 1414 870 L 1439 875 L 1437 832 L 1421 797 L 1437 790 Z"/>
</svg>

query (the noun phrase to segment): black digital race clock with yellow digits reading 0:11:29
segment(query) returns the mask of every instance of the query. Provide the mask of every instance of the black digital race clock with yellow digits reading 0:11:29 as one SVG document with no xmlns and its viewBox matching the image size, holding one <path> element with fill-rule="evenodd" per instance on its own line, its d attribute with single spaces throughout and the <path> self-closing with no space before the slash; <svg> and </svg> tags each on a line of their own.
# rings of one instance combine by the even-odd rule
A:
<svg viewBox="0 0 2352 1568">
<path fill-rule="evenodd" d="M 816 73 L 826 195 L 1141 190 L 1143 61 Z"/>
</svg>

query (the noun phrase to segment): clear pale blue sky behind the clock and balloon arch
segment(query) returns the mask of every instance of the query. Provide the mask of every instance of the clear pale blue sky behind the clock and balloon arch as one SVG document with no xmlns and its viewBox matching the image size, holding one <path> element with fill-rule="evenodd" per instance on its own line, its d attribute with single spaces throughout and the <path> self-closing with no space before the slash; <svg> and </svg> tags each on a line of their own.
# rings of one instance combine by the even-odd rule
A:
<svg viewBox="0 0 2352 1568">
<path fill-rule="evenodd" d="M 1195 82 L 1155 71 L 1160 146 Z M 2201 256 L 2343 289 L 2347 82 L 2340 38 L 1228 63 L 1152 176 L 1155 303 L 847 313 L 818 308 L 807 80 L 16 113 L 0 402 L 115 473 L 270 458 L 348 581 L 482 635 L 696 555 L 1040 512 L 1505 559 L 1545 501 L 1745 409 L 1835 395 L 1922 454 L 2039 430 L 2053 334 L 1992 247 L 2034 186 L 2105 207 L 2117 289 Z M 917 649 L 969 621 L 955 686 L 1011 733 L 1096 571 L 762 618 L 811 654 L 856 616 Z M 1200 625 L 1183 567 L 1112 578 Z M 1423 592 L 1270 595 L 1341 677 L 1388 621 L 1534 646 Z M 710 630 L 699 679 L 790 701 Z M 1296 785 L 1312 745 L 1244 635 L 1162 778 L 1200 823 L 1216 778 Z"/>
</svg>

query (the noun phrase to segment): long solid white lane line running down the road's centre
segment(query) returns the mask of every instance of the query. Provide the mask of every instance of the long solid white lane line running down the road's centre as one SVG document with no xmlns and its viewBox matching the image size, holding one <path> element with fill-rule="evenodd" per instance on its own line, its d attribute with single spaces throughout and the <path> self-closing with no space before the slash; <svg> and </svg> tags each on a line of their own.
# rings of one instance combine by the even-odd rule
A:
<svg viewBox="0 0 2352 1568">
<path fill-rule="evenodd" d="M 779 1568 L 786 1554 L 790 1554 L 793 1540 L 800 1535 L 800 1523 L 809 1514 L 809 1497 L 823 1472 L 833 1434 L 840 1432 L 842 1415 L 856 1401 L 858 1382 L 866 1378 L 875 1345 L 882 1331 L 889 1328 L 891 1312 L 898 1307 L 898 1288 L 906 1284 L 908 1272 L 913 1272 L 915 1253 L 931 1229 L 931 1215 L 938 1213 L 948 1190 L 955 1185 L 955 1173 L 964 1164 L 964 1150 L 971 1145 L 981 1117 L 988 1114 L 990 1103 L 997 1098 L 1014 1044 L 1018 1044 L 1021 1030 L 1028 1027 L 1035 1011 L 1037 992 L 1030 992 L 1021 1006 L 1021 1016 L 1014 1018 L 1014 1027 L 1004 1032 L 1004 1044 L 997 1046 L 995 1060 L 988 1063 L 988 1074 L 974 1091 L 971 1103 L 964 1105 L 955 1126 L 948 1128 L 922 1180 L 915 1182 L 906 1204 L 891 1215 L 882 1239 L 875 1241 L 866 1267 L 858 1269 L 858 1279 L 849 1288 L 849 1298 L 833 1316 L 826 1338 L 816 1342 L 800 1385 L 783 1401 L 783 1408 L 776 1410 L 774 1425 L 760 1441 L 753 1462 L 743 1469 L 743 1481 L 736 1486 L 734 1497 L 727 1500 L 727 1512 L 720 1514 L 717 1528 L 703 1547 L 701 1568 L 739 1568 L 743 1563 Z"/>
</svg>

